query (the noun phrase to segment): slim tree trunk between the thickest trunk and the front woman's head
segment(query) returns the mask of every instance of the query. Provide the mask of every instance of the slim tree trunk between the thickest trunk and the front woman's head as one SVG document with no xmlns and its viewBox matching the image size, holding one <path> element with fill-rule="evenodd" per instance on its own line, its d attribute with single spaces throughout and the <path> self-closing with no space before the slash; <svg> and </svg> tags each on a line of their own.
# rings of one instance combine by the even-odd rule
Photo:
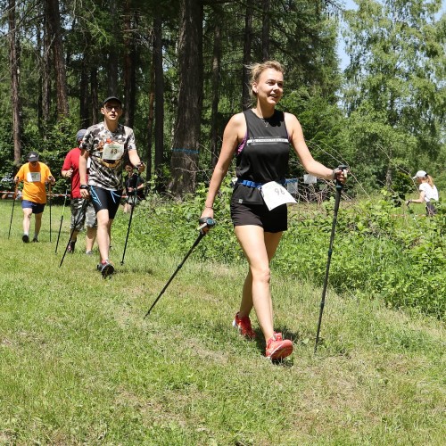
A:
<svg viewBox="0 0 446 446">
<path fill-rule="evenodd" d="M 212 110 L 211 110 L 211 168 L 219 159 L 219 77 L 221 65 L 221 26 L 215 21 L 214 46 L 212 51 Z"/>
</svg>

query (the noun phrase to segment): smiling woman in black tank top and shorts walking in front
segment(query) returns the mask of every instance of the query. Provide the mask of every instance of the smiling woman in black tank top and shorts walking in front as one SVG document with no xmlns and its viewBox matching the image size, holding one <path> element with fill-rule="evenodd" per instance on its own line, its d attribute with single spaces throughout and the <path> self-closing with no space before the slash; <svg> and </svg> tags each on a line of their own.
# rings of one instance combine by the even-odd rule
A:
<svg viewBox="0 0 446 446">
<path fill-rule="evenodd" d="M 282 65 L 268 61 L 255 63 L 250 68 L 255 104 L 252 109 L 235 114 L 227 123 L 202 218 L 213 218 L 215 197 L 235 155 L 237 182 L 231 199 L 231 218 L 249 269 L 233 326 L 241 335 L 254 338 L 255 332 L 249 318 L 253 307 L 265 337 L 265 356 L 283 359 L 293 352 L 293 343 L 274 331 L 269 262 L 287 229 L 287 207 L 280 204 L 269 211 L 271 198 L 268 196 L 267 200 L 267 187 L 264 185 L 274 181 L 277 182 L 277 189 L 280 184 L 285 184 L 290 144 L 310 174 L 344 183 L 346 172 L 328 169 L 315 161 L 305 144 L 301 124 L 296 117 L 276 110 L 284 93 Z M 260 188 L 263 188 L 262 193 Z"/>
</svg>

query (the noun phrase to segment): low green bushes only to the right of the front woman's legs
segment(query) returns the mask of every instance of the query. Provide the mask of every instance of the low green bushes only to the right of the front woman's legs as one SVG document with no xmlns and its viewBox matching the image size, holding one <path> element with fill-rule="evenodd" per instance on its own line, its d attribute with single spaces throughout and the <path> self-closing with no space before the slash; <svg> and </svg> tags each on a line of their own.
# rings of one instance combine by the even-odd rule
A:
<svg viewBox="0 0 446 446">
<path fill-rule="evenodd" d="M 321 282 L 330 214 L 292 227 L 275 261 L 293 274 Z M 340 211 L 330 284 L 339 292 L 380 298 L 392 307 L 415 307 L 444 318 L 444 216 L 442 206 L 434 219 L 395 214 L 392 202 L 384 200 Z M 299 252 L 293 253 L 295 246 Z"/>
</svg>

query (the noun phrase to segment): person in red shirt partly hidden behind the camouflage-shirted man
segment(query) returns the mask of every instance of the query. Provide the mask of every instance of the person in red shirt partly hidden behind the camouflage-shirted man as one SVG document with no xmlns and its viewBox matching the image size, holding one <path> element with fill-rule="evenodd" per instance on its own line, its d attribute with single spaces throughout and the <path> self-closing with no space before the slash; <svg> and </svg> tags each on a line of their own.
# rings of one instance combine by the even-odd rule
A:
<svg viewBox="0 0 446 446">
<path fill-rule="evenodd" d="M 82 128 L 78 131 L 76 135 L 77 146 L 71 149 L 62 165 L 62 177 L 70 178 L 71 182 L 71 193 L 70 193 L 70 208 L 71 208 L 71 224 L 70 229 L 73 230 L 74 225 L 78 222 L 76 228 L 74 228 L 73 236 L 71 237 L 71 242 L 68 246 L 67 252 L 73 253 L 76 242 L 78 240 L 78 233 L 84 228 L 84 224 L 87 222 L 87 235 L 86 235 L 86 253 L 91 255 L 93 253 L 93 245 L 95 244 L 96 238 L 96 214 L 95 208 L 91 200 L 87 204 L 87 209 L 84 215 L 79 215 L 82 210 L 82 204 L 84 199 L 80 195 L 80 176 L 79 176 L 79 157 L 80 149 L 79 145 L 82 138 L 86 134 L 87 130 Z"/>
</svg>

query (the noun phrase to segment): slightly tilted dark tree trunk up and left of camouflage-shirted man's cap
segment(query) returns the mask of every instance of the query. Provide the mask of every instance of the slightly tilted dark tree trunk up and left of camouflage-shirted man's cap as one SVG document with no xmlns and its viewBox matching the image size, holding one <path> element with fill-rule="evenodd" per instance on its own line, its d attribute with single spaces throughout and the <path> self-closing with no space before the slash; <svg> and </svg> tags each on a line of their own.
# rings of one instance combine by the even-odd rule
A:
<svg viewBox="0 0 446 446">
<path fill-rule="evenodd" d="M 61 15 L 57 0 L 45 0 L 45 18 L 48 25 L 47 33 L 52 39 L 51 48 L 53 54 L 57 119 L 68 117 L 67 77 L 63 59 Z"/>
</svg>

